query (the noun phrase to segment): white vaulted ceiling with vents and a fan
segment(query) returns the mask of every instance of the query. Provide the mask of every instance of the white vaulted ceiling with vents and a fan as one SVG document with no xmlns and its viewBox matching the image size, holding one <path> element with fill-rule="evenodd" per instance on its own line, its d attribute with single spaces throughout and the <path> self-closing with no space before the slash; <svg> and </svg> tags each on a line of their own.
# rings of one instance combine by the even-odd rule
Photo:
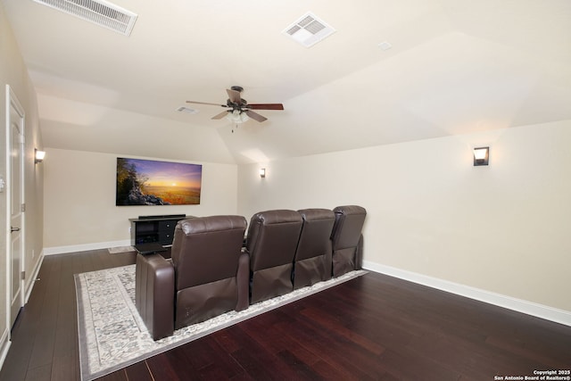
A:
<svg viewBox="0 0 571 381">
<path fill-rule="evenodd" d="M 571 119 L 569 0 L 113 0 L 130 37 L 0 2 L 48 147 L 266 162 Z M 308 11 L 336 29 L 310 48 L 282 33 Z M 176 111 L 233 85 L 285 111 L 234 133 L 219 107 Z"/>
</svg>

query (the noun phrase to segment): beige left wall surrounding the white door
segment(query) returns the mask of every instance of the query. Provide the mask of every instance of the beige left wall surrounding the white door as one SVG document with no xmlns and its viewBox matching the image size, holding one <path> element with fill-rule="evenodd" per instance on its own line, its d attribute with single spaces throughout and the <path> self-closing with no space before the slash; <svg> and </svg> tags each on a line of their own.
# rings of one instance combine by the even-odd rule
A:
<svg viewBox="0 0 571 381">
<path fill-rule="evenodd" d="M 43 170 L 34 165 L 34 148 L 42 148 L 42 139 L 37 121 L 37 100 L 34 89 L 29 80 L 28 71 L 22 61 L 20 51 L 12 35 L 12 29 L 4 14 L 4 5 L 0 3 L 0 176 L 6 179 L 6 85 L 9 85 L 17 96 L 25 112 L 24 136 L 26 139 L 24 149 L 25 171 L 25 253 L 24 293 L 29 294 L 33 284 L 34 273 L 41 260 L 43 236 Z M 8 184 L 9 186 L 9 184 Z M 6 216 L 6 192 L 0 193 L 0 364 L 4 354 L 6 339 L 6 310 L 8 306 L 8 290 L 6 285 L 7 268 L 7 232 L 9 225 Z M 7 331 L 9 333 L 9 329 Z"/>
</svg>

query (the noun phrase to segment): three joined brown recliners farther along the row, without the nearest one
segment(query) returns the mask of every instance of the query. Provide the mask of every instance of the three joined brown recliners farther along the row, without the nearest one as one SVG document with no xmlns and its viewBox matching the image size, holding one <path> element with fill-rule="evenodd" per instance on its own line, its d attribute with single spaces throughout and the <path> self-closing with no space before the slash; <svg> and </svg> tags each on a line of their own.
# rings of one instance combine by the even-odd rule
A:
<svg viewBox="0 0 571 381">
<path fill-rule="evenodd" d="M 261 302 L 360 269 L 361 230 L 367 211 L 356 205 L 301 211 L 261 211 L 252 216 L 251 299 Z"/>
</svg>

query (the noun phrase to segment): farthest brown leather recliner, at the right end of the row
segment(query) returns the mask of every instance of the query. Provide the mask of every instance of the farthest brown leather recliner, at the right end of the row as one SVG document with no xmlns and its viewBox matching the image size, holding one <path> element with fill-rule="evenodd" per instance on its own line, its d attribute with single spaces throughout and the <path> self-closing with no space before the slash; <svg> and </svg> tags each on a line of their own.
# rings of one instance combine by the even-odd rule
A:
<svg viewBox="0 0 571 381">
<path fill-rule="evenodd" d="M 331 234 L 333 244 L 333 277 L 361 268 L 363 236 L 361 230 L 367 211 L 357 205 L 337 206 L 335 226 Z"/>
</svg>

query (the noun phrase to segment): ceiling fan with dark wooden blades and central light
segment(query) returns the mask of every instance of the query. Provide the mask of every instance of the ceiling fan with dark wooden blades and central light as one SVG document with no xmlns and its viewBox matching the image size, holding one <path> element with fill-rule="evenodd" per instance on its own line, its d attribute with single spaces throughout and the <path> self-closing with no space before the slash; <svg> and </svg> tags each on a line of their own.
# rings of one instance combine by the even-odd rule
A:
<svg viewBox="0 0 571 381">
<path fill-rule="evenodd" d="M 222 119 L 226 117 L 235 123 L 243 123 L 244 121 L 252 118 L 257 121 L 268 120 L 268 118 L 260 115 L 258 112 L 252 110 L 284 110 L 283 104 L 248 104 L 240 93 L 244 91 L 243 87 L 233 86 L 226 90 L 228 93 L 228 100 L 226 104 L 210 104 L 212 106 L 222 106 L 228 108 L 224 112 L 214 115 L 211 119 Z M 187 104 L 209 104 L 206 102 L 186 101 Z"/>
</svg>

